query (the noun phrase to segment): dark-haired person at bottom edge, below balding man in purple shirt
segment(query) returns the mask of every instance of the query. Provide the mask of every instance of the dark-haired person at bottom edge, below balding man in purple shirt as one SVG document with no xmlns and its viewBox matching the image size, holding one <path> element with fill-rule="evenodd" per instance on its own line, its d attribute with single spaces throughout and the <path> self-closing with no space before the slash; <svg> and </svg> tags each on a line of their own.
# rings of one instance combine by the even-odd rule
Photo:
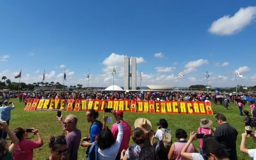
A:
<svg viewBox="0 0 256 160">
<path fill-rule="evenodd" d="M 49 148 L 51 149 L 51 154 L 45 160 L 67 160 L 64 156 L 68 150 L 65 135 L 51 136 Z"/>
</svg>

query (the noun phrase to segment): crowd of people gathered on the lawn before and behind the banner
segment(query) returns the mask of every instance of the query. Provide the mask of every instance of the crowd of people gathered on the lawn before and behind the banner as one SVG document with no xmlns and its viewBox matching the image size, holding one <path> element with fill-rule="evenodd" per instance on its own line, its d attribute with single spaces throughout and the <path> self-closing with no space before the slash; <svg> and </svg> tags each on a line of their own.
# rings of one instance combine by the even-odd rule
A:
<svg viewBox="0 0 256 160">
<path fill-rule="evenodd" d="M 50 94 L 50 93 L 49 93 Z M 58 93 L 51 93 L 52 98 L 56 98 Z M 63 95 L 79 97 L 82 93 L 63 93 Z M 175 97 L 184 100 L 212 100 L 212 96 L 207 94 L 181 94 L 173 93 L 86 93 L 86 97 L 111 97 L 111 99 L 119 99 L 125 97 L 134 97 L 139 99 L 172 99 Z M 199 96 L 200 95 L 200 96 Z M 27 94 L 27 96 L 32 96 Z M 35 95 L 36 96 L 36 95 Z M 38 95 L 39 96 L 39 95 Z M 44 95 L 42 96 L 49 96 Z M 59 95 L 62 96 L 62 95 Z M 19 97 L 19 94 L 18 94 Z M 40 97 L 42 98 L 42 97 Z M 69 97 L 70 98 L 70 97 Z M 25 98 L 26 99 L 26 98 Z M 129 98 L 130 99 L 130 98 Z M 23 100 L 23 97 L 22 97 Z M 252 137 L 256 142 L 255 134 L 252 132 L 253 118 L 250 117 L 256 113 L 253 102 L 250 102 L 251 111 L 243 109 L 244 100 L 241 97 L 236 99 L 237 107 L 240 113 L 246 115 L 243 118 L 245 124 L 245 132 L 241 134 L 241 152 L 248 154 L 256 159 L 256 149 L 246 148 L 246 136 Z M 242 108 L 242 109 L 240 109 Z M 33 150 L 42 147 L 44 141 L 38 129 L 24 129 L 22 126 L 17 127 L 13 132 L 10 131 L 8 125 L 11 120 L 11 111 L 15 109 L 13 102 L 8 99 L 3 100 L 0 107 L 0 160 L 1 159 L 33 159 Z M 237 159 L 236 140 L 238 132 L 235 127 L 228 124 L 225 115 L 218 113 L 214 116 L 218 127 L 213 128 L 212 120 L 207 118 L 198 119 L 198 129 L 196 132 L 187 133 L 182 126 L 180 129 L 173 131 L 168 127 L 167 120 L 161 118 L 157 124 L 152 124 L 146 118 L 138 118 L 134 121 L 134 129 L 131 124 L 125 121 L 124 112 L 117 110 L 111 111 L 115 117 L 115 123 L 108 126 L 111 122 L 109 114 L 105 114 L 103 118 L 99 118 L 99 112 L 94 109 L 86 111 L 86 120 L 90 125 L 88 137 L 82 138 L 81 131 L 77 128 L 78 119 L 75 115 L 62 115 L 56 117 L 56 123 L 60 123 L 60 130 L 65 134 L 52 136 L 48 140 L 49 157 L 45 159 L 70 159 L 76 160 L 79 147 L 86 147 L 86 156 L 84 159 Z M 256 114 L 255 114 L 256 115 Z M 157 130 L 153 131 L 153 125 L 157 126 Z M 36 136 L 36 140 L 29 140 L 28 134 L 31 132 Z M 86 133 L 87 134 L 87 133 Z M 175 138 L 174 138 L 175 135 Z M 6 137 L 9 137 L 11 143 L 8 144 Z M 134 145 L 129 146 L 130 141 Z M 193 141 L 199 140 L 199 146 L 193 145 Z M 196 148 L 199 148 L 197 150 Z"/>
</svg>

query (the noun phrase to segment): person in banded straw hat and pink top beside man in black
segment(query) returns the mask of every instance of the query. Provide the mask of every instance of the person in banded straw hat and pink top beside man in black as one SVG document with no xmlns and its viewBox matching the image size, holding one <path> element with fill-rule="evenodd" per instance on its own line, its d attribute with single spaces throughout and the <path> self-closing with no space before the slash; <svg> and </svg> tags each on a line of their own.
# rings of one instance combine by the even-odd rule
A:
<svg viewBox="0 0 256 160">
<path fill-rule="evenodd" d="M 207 118 L 202 118 L 200 120 L 200 127 L 198 127 L 198 129 L 197 129 L 197 133 L 204 134 L 204 135 L 211 134 L 212 130 L 209 128 L 209 127 L 211 127 L 211 125 L 212 125 L 212 120 L 209 120 Z M 199 142 L 200 142 L 199 143 L 200 154 L 202 154 L 204 159 L 206 159 L 205 154 L 203 152 L 203 143 L 204 142 L 202 139 L 199 139 Z"/>
</svg>

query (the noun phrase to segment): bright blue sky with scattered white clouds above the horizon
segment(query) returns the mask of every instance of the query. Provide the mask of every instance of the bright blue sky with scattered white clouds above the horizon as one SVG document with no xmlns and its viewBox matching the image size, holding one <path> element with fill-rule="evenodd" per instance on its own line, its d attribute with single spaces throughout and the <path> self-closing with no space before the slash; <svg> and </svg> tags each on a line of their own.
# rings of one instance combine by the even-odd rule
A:
<svg viewBox="0 0 256 160">
<path fill-rule="evenodd" d="M 124 86 L 124 56 L 141 86 L 256 84 L 256 1 L 0 1 L 0 77 L 24 83 Z M 140 86 L 138 78 L 137 86 Z"/>
</svg>

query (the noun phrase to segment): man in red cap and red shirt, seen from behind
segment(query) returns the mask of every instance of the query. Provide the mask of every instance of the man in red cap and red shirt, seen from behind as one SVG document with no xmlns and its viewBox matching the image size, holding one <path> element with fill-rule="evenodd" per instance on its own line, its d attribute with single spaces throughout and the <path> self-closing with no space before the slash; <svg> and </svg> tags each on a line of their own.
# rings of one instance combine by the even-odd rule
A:
<svg viewBox="0 0 256 160">
<path fill-rule="evenodd" d="M 123 131 L 124 131 L 124 134 L 123 134 L 123 140 L 122 140 L 122 143 L 120 145 L 120 148 L 118 150 L 118 154 L 116 156 L 116 159 L 120 159 L 120 156 L 121 156 L 121 152 L 122 150 L 127 150 L 127 148 L 129 147 L 129 141 L 130 141 L 130 136 L 131 136 L 131 125 L 128 123 L 128 122 L 125 122 L 124 121 L 124 113 L 123 111 L 120 111 L 120 110 L 117 110 L 113 113 L 113 115 L 115 116 L 115 120 L 116 120 L 116 123 L 112 125 L 111 127 L 111 132 L 114 136 L 114 138 L 116 139 L 117 138 L 117 134 L 118 134 L 118 125 L 117 125 L 117 122 L 120 122 L 120 124 L 122 125 L 123 127 Z"/>
</svg>

